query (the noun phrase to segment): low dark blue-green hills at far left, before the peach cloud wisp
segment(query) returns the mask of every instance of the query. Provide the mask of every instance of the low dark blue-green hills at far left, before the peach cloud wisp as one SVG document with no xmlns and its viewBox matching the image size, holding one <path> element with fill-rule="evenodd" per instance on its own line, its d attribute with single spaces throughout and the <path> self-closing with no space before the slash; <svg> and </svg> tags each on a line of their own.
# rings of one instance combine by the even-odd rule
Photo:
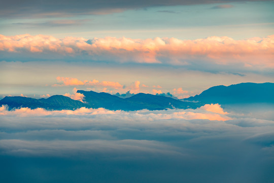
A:
<svg viewBox="0 0 274 183">
<path fill-rule="evenodd" d="M 84 103 L 62 95 L 55 95 L 48 99 L 32 99 L 27 97 L 5 97 L 0 101 L 0 106 L 1 105 L 8 105 L 9 109 L 28 107 L 30 109 L 44 108 L 48 110 L 74 110 L 80 107 L 86 107 Z"/>
</svg>

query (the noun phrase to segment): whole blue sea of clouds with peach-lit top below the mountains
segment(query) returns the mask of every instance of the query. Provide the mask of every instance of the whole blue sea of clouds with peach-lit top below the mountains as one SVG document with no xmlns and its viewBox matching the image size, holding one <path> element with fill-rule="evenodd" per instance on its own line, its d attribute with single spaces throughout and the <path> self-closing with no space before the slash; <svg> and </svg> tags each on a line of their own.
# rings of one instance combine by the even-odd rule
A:
<svg viewBox="0 0 274 183">
<path fill-rule="evenodd" d="M 274 180 L 274 120 L 218 104 L 129 112 L 2 106 L 0 119 L 6 182 Z"/>
</svg>

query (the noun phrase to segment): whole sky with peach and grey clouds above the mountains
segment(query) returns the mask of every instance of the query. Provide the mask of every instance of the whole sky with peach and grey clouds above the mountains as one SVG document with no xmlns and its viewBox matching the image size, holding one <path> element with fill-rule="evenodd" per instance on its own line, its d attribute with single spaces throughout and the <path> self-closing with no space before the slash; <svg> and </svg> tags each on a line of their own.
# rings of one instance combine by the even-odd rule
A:
<svg viewBox="0 0 274 183">
<path fill-rule="evenodd" d="M 274 82 L 273 9 L 272 1 L 5 1 L 0 98 L 74 88 L 187 98 Z"/>
</svg>

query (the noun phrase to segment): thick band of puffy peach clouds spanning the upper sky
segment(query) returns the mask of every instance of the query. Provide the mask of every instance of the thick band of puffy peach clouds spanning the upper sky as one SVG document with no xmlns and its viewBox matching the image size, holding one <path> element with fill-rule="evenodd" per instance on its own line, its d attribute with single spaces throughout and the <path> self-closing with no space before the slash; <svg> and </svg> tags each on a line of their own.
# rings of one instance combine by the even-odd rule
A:
<svg viewBox="0 0 274 183">
<path fill-rule="evenodd" d="M 83 59 L 86 57 L 93 61 L 107 60 L 120 63 L 191 65 L 205 62 L 232 66 L 241 64 L 248 69 L 274 68 L 273 40 L 274 35 L 246 40 L 216 36 L 196 40 L 158 37 L 146 40 L 113 37 L 88 40 L 73 37 L 57 39 L 44 35 L 0 35 L 0 50 L 23 54 L 55 53 L 81 56 Z M 83 84 L 77 80 L 70 82 Z"/>
</svg>

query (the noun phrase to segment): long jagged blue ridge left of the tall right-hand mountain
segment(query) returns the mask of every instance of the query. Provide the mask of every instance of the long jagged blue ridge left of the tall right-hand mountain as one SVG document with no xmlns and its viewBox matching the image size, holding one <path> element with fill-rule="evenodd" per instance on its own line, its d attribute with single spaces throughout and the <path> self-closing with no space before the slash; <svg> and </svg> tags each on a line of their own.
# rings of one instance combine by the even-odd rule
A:
<svg viewBox="0 0 274 183">
<path fill-rule="evenodd" d="M 81 107 L 88 108 L 106 108 L 110 110 L 163 110 L 172 108 L 197 108 L 200 105 L 193 102 L 183 102 L 169 97 L 154 96 L 150 94 L 137 94 L 132 97 L 123 99 L 107 93 L 86 92 L 78 90 L 77 93 L 85 97 L 83 102 L 71 98 L 55 95 L 48 99 L 32 99 L 27 97 L 5 97 L 0 101 L 1 105 L 8 105 L 9 109 L 28 107 L 30 109 L 44 108 L 47 110 L 75 110 Z"/>
</svg>

